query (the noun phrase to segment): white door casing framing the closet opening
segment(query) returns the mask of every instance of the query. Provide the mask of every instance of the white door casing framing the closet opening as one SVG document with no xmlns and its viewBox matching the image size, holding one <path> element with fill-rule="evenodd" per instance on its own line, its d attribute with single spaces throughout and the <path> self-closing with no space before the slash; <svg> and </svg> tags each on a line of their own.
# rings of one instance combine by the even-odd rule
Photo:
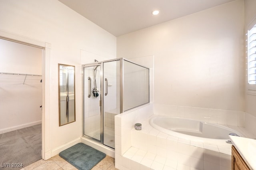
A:
<svg viewBox="0 0 256 170">
<path fill-rule="evenodd" d="M 50 156 L 50 49 L 51 44 L 0 30 L 0 38 L 44 48 L 43 57 L 43 105 L 42 105 L 42 158 Z"/>
</svg>

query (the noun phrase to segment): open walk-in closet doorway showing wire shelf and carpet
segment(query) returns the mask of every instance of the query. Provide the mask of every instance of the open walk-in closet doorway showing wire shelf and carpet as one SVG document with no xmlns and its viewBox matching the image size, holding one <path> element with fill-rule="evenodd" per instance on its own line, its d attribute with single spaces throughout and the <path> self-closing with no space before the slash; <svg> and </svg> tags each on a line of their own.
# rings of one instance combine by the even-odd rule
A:
<svg viewBox="0 0 256 170">
<path fill-rule="evenodd" d="M 42 47 L 0 38 L 1 168 L 42 158 L 43 57 Z"/>
</svg>

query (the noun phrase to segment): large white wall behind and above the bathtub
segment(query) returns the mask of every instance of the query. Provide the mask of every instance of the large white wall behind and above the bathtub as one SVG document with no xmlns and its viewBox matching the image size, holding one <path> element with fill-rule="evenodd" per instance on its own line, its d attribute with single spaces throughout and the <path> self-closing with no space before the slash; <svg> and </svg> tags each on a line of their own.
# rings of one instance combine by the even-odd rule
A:
<svg viewBox="0 0 256 170">
<path fill-rule="evenodd" d="M 117 57 L 154 55 L 154 103 L 244 111 L 244 2 L 117 38 Z"/>
</svg>

